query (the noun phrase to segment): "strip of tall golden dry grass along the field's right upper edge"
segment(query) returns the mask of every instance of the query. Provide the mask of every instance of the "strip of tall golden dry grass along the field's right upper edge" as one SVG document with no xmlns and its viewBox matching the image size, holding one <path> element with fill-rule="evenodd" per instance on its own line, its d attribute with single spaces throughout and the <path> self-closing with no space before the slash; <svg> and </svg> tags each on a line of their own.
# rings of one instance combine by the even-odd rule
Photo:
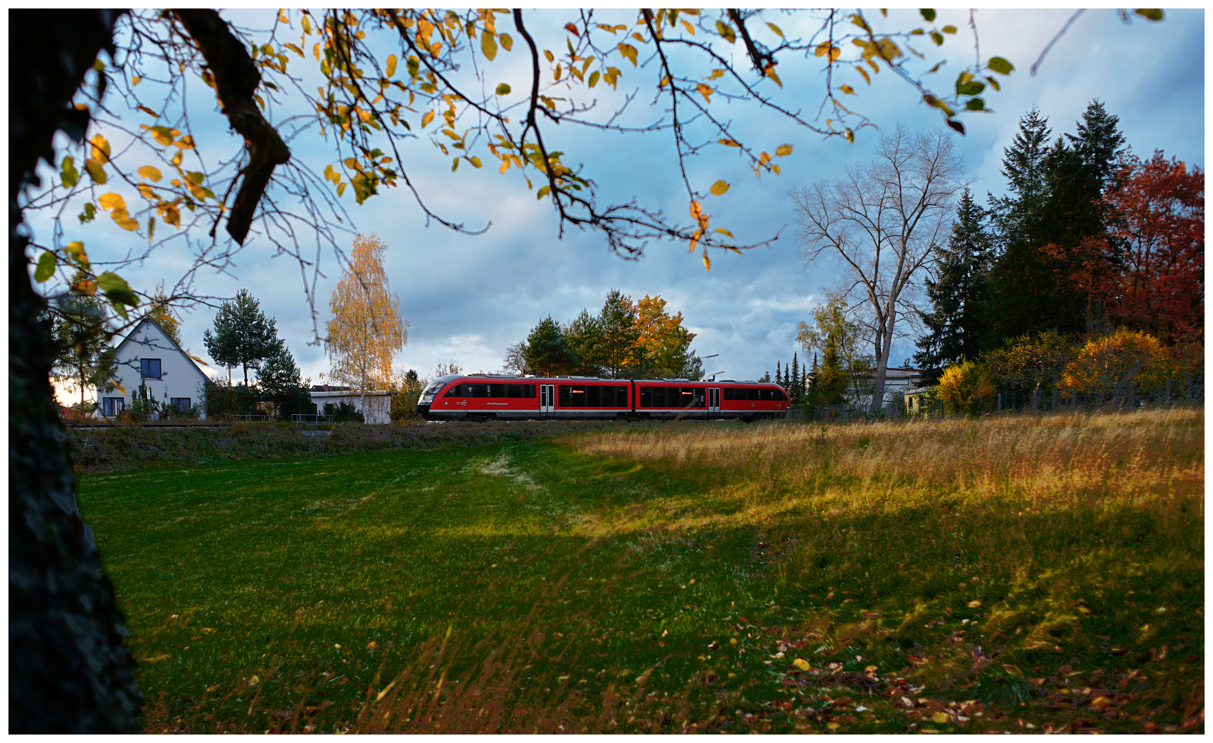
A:
<svg viewBox="0 0 1213 743">
<path fill-rule="evenodd" d="M 1203 413 L 1194 410 L 952 418 L 894 423 L 670 425 L 565 439 L 587 455 L 705 470 L 774 493 L 813 491 L 836 507 L 892 507 L 941 493 L 1009 497 L 1023 508 L 1065 503 L 1156 507 L 1200 498 Z"/>
</svg>

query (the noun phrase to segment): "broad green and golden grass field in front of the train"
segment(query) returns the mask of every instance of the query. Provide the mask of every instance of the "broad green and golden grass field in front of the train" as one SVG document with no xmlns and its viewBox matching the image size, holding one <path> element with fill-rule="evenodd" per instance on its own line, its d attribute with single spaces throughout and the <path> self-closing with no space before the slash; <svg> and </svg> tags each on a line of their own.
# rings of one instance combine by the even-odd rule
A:
<svg viewBox="0 0 1213 743">
<path fill-rule="evenodd" d="M 1200 412 L 87 476 L 161 731 L 1203 731 Z"/>
</svg>

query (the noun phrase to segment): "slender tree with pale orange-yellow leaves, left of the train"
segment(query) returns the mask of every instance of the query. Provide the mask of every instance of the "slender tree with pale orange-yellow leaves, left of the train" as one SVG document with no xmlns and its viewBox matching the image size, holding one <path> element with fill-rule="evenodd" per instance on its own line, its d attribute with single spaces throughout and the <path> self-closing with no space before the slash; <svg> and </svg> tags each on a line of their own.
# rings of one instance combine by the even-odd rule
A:
<svg viewBox="0 0 1213 743">
<path fill-rule="evenodd" d="M 386 385 L 392 359 L 408 339 L 400 319 L 400 298 L 388 288 L 383 270 L 387 245 L 376 235 L 357 235 L 354 248 L 332 291 L 324 348 L 331 361 L 330 378 L 366 391 Z"/>
</svg>

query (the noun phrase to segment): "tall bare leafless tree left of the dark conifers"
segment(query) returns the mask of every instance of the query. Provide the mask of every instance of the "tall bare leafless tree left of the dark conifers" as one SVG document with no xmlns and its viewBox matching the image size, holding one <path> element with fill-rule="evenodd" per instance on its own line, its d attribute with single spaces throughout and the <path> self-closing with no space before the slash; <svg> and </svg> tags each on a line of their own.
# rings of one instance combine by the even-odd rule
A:
<svg viewBox="0 0 1213 743">
<path fill-rule="evenodd" d="M 876 356 L 873 405 L 884 401 L 884 371 L 898 322 L 912 318 L 917 282 L 946 239 L 953 196 L 966 185 L 961 159 L 943 132 L 881 137 L 876 160 L 843 178 L 793 189 L 801 257 L 841 264 L 839 290 L 867 326 Z"/>
</svg>

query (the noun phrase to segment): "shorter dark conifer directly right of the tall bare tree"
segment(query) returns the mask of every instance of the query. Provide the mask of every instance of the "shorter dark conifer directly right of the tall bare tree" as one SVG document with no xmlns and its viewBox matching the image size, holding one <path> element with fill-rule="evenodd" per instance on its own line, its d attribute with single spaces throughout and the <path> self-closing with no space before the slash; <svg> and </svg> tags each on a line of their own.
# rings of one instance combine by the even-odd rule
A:
<svg viewBox="0 0 1213 743">
<path fill-rule="evenodd" d="M 927 335 L 918 338 L 915 362 L 923 368 L 923 383 L 935 384 L 943 367 L 976 359 L 987 333 L 986 280 L 993 246 L 985 228 L 985 210 L 964 189 L 946 246 L 936 248 L 939 264 L 927 279 L 932 309 L 922 314 Z"/>
</svg>

